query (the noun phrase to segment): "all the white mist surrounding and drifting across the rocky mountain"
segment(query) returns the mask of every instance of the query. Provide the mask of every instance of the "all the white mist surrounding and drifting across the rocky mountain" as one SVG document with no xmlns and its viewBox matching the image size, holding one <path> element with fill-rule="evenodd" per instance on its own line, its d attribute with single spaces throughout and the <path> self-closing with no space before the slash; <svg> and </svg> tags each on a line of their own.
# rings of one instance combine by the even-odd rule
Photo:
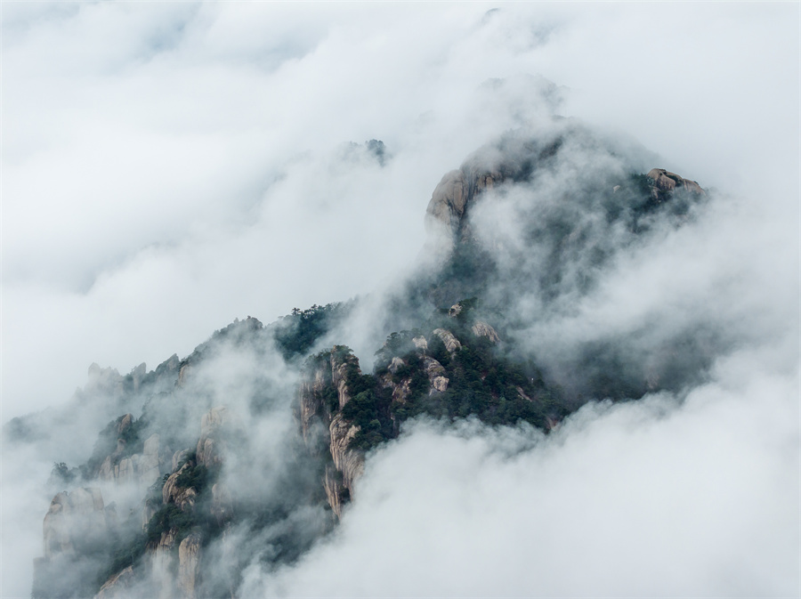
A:
<svg viewBox="0 0 801 599">
<path fill-rule="evenodd" d="M 208 548 L 216 589 L 238 570 L 242 597 L 799 595 L 798 6 L 305 8 L 0 8 L 0 420 L 36 412 L 44 431 L 18 445 L 4 427 L 0 595 L 30 595 L 54 462 L 85 462 L 109 421 L 148 409 L 174 424 L 170 452 L 190 449 L 223 403 L 232 501 L 276 523 L 244 518 Z M 314 349 L 347 344 L 369 371 L 417 317 L 387 305 L 435 262 L 424 215 L 443 174 L 563 126 L 606 146 L 471 215 L 507 341 L 592 400 L 550 433 L 407 422 L 334 527 L 297 435 L 299 365 L 266 334 L 214 345 L 169 404 L 122 393 L 118 373 L 190 356 L 235 318 L 357 296 Z M 635 241 L 578 211 L 595 241 L 561 287 L 514 283 L 543 271 L 522 223 L 547 223 L 577 174 L 635 167 L 708 196 Z M 590 283 L 570 271 L 587 247 L 607 256 Z M 659 384 L 588 397 L 587 347 Z M 684 365 L 676 384 L 665 363 Z M 133 513 L 141 489 L 101 486 Z"/>
</svg>

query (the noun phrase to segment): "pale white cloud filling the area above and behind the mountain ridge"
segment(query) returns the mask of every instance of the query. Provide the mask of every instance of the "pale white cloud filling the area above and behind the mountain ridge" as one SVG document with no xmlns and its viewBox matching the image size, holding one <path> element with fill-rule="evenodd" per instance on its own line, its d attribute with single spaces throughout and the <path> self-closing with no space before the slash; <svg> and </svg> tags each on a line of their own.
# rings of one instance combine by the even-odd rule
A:
<svg viewBox="0 0 801 599">
<path fill-rule="evenodd" d="M 525 114 L 489 77 L 797 232 L 795 5 L 491 8 L 4 3 L 3 419 L 396 277 L 441 175 Z M 372 138 L 384 169 L 343 159 Z"/>
</svg>

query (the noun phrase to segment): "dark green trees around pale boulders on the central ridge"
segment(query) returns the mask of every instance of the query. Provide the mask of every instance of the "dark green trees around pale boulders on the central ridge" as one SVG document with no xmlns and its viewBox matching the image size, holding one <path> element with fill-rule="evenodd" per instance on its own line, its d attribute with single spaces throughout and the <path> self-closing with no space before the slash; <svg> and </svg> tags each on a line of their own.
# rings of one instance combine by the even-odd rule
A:
<svg viewBox="0 0 801 599">
<path fill-rule="evenodd" d="M 387 336 L 384 346 L 376 352 L 376 371 L 373 376 L 361 375 L 357 360 L 350 348 L 339 346 L 315 360 L 330 358 L 347 364 L 346 384 L 351 400 L 342 409 L 342 416 L 360 430 L 351 441 L 354 449 L 367 450 L 392 439 L 399 425 L 409 417 L 428 415 L 455 419 L 479 417 L 491 425 L 514 425 L 520 421 L 547 429 L 550 419 L 561 419 L 568 409 L 558 390 L 548 389 L 533 362 L 514 360 L 502 347 L 489 339 L 475 336 L 471 330 L 481 316 L 481 302 L 471 297 L 459 302 L 461 311 L 448 314 L 436 312 L 425 329 L 402 330 Z M 453 356 L 446 350 L 433 328 L 446 328 L 459 339 L 461 350 Z M 423 334 L 428 344 L 424 353 L 411 342 Z M 425 370 L 428 357 L 440 362 L 449 379 L 448 389 L 432 391 Z M 393 357 L 401 358 L 389 370 Z M 433 367 L 432 367 L 433 368 Z M 392 387 L 384 388 L 383 381 L 404 385 L 408 389 L 404 402 L 392 401 Z M 331 415 L 338 411 L 336 389 L 329 382 L 323 392 Z"/>
</svg>

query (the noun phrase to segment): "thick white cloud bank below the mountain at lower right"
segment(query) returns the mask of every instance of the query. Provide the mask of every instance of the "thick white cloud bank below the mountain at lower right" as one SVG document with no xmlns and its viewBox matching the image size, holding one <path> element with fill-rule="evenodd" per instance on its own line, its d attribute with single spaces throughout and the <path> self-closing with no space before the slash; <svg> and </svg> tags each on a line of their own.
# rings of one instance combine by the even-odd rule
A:
<svg viewBox="0 0 801 599">
<path fill-rule="evenodd" d="M 370 457 L 336 535 L 243 593 L 792 596 L 798 381 L 760 362 L 547 437 L 418 422 Z"/>
</svg>

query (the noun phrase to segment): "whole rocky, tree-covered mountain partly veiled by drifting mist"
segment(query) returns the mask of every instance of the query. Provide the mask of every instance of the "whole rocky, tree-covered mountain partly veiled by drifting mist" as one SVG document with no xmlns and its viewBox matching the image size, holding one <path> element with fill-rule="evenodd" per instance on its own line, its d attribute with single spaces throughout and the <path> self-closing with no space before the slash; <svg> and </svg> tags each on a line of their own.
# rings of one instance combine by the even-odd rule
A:
<svg viewBox="0 0 801 599">
<path fill-rule="evenodd" d="M 117 411 L 84 463 L 53 468 L 32 595 L 237 596 L 248 567 L 295 563 L 336 527 L 371 449 L 409 418 L 547 432 L 586 401 L 704 376 L 725 342 L 714 326 L 537 335 L 580 312 L 621 255 L 703 209 L 698 183 L 635 156 L 569 121 L 511 132 L 433 191 L 434 267 L 379 324 L 360 301 L 315 305 L 238 320 L 150 372 L 92 368 L 103 392 L 70 409 Z M 365 323 L 386 337 L 368 372 L 337 339 Z M 35 441 L 40 419 L 8 430 Z"/>
</svg>

